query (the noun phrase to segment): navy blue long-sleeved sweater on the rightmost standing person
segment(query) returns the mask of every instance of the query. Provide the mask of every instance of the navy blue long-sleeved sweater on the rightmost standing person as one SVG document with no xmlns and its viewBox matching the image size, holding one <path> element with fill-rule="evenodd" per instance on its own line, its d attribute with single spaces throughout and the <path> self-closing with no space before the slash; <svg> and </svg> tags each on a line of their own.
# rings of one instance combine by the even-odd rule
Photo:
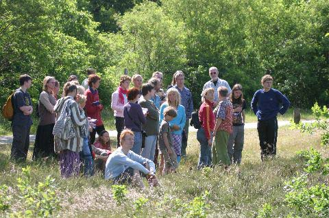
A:
<svg viewBox="0 0 329 218">
<path fill-rule="evenodd" d="M 268 92 L 260 89 L 254 94 L 251 106 L 258 120 L 266 121 L 276 117 L 278 112 L 284 114 L 290 106 L 290 101 L 274 88 Z"/>
</svg>

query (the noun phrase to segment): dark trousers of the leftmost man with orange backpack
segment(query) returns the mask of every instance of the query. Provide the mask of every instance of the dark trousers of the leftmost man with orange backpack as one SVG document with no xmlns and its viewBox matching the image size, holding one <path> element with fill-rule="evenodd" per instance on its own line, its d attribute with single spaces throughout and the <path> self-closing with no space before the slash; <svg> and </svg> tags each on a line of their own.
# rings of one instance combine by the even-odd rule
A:
<svg viewBox="0 0 329 218">
<path fill-rule="evenodd" d="M 31 126 L 12 124 L 12 152 L 10 158 L 25 161 L 29 150 L 29 130 Z"/>
</svg>

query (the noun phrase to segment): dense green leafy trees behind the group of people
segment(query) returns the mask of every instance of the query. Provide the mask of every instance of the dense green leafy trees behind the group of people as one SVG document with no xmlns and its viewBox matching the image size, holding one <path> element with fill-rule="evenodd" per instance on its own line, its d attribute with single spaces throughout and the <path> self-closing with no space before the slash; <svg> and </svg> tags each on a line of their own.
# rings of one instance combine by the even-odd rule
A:
<svg viewBox="0 0 329 218">
<path fill-rule="evenodd" d="M 270 73 L 293 106 L 329 104 L 326 0 L 3 0 L 0 14 L 1 105 L 23 73 L 36 101 L 45 75 L 63 84 L 87 67 L 102 77 L 106 106 L 125 68 L 162 71 L 165 86 L 181 69 L 198 105 L 210 66 L 247 100 Z"/>
</svg>

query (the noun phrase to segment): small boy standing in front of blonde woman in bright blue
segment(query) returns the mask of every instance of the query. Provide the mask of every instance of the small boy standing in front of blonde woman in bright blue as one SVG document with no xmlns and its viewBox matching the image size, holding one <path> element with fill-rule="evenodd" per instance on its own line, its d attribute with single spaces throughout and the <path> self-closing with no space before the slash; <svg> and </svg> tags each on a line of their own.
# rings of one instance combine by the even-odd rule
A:
<svg viewBox="0 0 329 218">
<path fill-rule="evenodd" d="M 178 167 L 177 156 L 173 150 L 173 142 L 171 140 L 169 121 L 177 116 L 175 109 L 167 107 L 163 112 L 164 119 L 160 124 L 159 131 L 159 148 L 164 158 L 163 174 L 175 171 Z M 161 172 L 160 172 L 161 173 Z"/>
</svg>

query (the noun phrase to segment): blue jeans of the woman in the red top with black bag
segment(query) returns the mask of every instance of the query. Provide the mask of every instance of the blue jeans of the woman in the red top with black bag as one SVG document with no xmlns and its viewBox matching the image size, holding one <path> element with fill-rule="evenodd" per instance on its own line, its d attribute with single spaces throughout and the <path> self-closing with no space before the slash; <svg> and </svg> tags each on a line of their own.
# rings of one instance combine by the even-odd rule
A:
<svg viewBox="0 0 329 218">
<path fill-rule="evenodd" d="M 197 141 L 200 143 L 200 156 L 197 168 L 209 167 L 211 165 L 211 147 L 208 145 L 208 138 L 204 128 L 197 130 Z"/>
</svg>

